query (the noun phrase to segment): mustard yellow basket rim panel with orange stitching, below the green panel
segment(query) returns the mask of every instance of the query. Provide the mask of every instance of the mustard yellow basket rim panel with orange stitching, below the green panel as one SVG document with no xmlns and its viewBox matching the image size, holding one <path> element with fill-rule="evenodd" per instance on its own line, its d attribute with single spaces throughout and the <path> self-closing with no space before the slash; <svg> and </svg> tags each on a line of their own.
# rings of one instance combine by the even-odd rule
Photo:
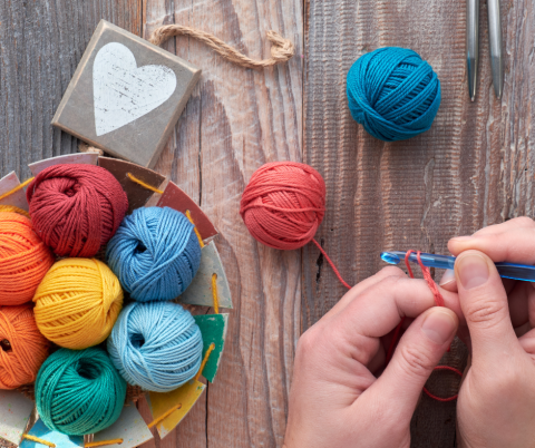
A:
<svg viewBox="0 0 535 448">
<path fill-rule="evenodd" d="M 148 406 L 153 418 L 157 419 L 163 416 L 167 410 L 172 409 L 176 405 L 181 405 L 181 408 L 172 412 L 167 418 L 156 425 L 159 437 L 167 436 L 176 426 L 187 416 L 187 412 L 193 408 L 203 393 L 206 384 L 200 381 L 191 380 L 176 390 L 165 393 L 149 392 Z"/>
</svg>

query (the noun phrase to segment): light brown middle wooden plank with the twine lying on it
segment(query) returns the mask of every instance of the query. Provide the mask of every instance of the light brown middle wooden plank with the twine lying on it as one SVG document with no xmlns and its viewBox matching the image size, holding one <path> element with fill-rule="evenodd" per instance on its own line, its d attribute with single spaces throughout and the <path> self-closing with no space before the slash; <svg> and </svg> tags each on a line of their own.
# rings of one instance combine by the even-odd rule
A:
<svg viewBox="0 0 535 448">
<path fill-rule="evenodd" d="M 269 56 L 265 32 L 274 29 L 302 53 L 298 0 L 149 0 L 144 17 L 145 37 L 164 21 L 179 22 L 260 59 Z M 301 254 L 257 245 L 237 211 L 257 167 L 301 158 L 302 60 L 253 71 L 224 61 L 193 39 L 177 38 L 164 48 L 176 50 L 203 74 L 155 169 L 189 194 L 220 231 L 215 242 L 234 310 L 216 383 L 181 422 L 176 440 L 167 442 L 172 432 L 162 446 L 282 446 L 300 333 Z M 204 418 L 201 409 L 207 409 Z"/>
</svg>

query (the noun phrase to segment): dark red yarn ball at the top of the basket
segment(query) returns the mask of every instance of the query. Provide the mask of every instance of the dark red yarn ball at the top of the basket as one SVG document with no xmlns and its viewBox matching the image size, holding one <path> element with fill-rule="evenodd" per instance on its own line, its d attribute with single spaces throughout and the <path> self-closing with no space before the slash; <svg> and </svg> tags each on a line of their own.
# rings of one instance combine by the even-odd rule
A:
<svg viewBox="0 0 535 448">
<path fill-rule="evenodd" d="M 119 182 L 95 165 L 50 166 L 36 176 L 26 194 L 37 233 L 64 256 L 94 256 L 128 210 Z"/>
</svg>

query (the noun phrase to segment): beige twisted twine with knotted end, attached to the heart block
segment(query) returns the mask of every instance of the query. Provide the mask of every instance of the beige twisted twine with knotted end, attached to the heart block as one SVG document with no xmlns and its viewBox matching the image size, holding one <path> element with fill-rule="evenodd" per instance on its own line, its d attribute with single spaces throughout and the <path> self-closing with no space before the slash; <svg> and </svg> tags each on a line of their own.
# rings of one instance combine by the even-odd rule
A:
<svg viewBox="0 0 535 448">
<path fill-rule="evenodd" d="M 149 42 L 159 47 L 167 39 L 175 36 L 192 37 L 212 48 L 226 60 L 245 68 L 260 69 L 272 67 L 286 62 L 295 55 L 295 47 L 291 40 L 283 38 L 276 31 L 268 31 L 266 33 L 268 40 L 271 42 L 271 58 L 263 60 L 249 58 L 210 32 L 182 25 L 164 25 L 156 28 L 149 38 Z"/>
</svg>

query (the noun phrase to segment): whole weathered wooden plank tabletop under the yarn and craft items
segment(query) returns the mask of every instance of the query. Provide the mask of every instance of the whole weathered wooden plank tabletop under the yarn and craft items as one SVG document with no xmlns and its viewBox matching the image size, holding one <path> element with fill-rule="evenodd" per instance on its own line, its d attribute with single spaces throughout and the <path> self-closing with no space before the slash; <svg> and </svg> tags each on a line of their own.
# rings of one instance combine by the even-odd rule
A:
<svg viewBox="0 0 535 448">
<path fill-rule="evenodd" d="M 296 340 L 344 293 L 313 246 L 279 252 L 249 235 L 239 203 L 262 164 L 303 160 L 324 176 L 317 237 L 350 283 L 382 266 L 382 249 L 445 253 L 454 235 L 533 216 L 535 8 L 503 0 L 502 14 L 504 98 L 493 92 L 481 2 L 471 104 L 463 1 L 0 0 L 0 171 L 21 178 L 30 162 L 77 152 L 78 142 L 49 124 L 101 18 L 143 37 L 162 23 L 196 27 L 254 58 L 269 56 L 265 32 L 274 29 L 298 49 L 288 65 L 253 71 L 192 39 L 166 46 L 203 75 L 157 171 L 221 231 L 235 309 L 216 383 L 177 431 L 147 447 L 280 447 Z M 417 50 L 442 87 L 432 129 L 396 144 L 366 135 L 347 108 L 349 67 L 382 46 Z M 445 361 L 461 368 L 465 358 L 456 344 Z M 442 395 L 458 386 L 447 374 L 432 382 Z M 455 403 L 424 397 L 412 423 L 415 447 L 455 446 Z"/>
</svg>

